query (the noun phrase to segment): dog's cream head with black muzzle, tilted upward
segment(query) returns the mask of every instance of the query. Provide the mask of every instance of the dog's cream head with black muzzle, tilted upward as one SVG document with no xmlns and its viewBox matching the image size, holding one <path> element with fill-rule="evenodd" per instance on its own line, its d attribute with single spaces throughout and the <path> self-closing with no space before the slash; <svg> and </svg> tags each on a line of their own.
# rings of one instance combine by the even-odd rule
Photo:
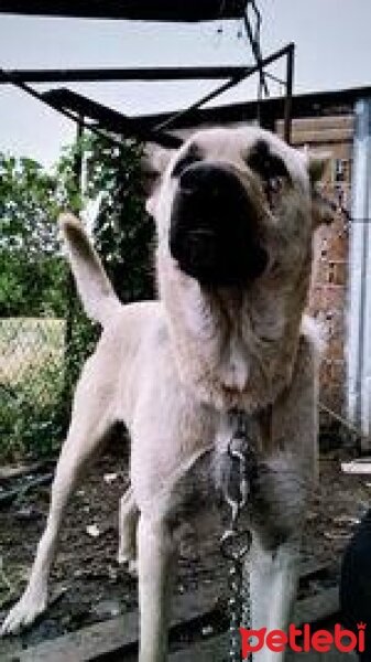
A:
<svg viewBox="0 0 371 662">
<path fill-rule="evenodd" d="M 257 128 L 209 129 L 173 153 L 148 210 L 160 253 L 200 286 L 249 286 L 299 274 L 328 211 L 315 192 L 325 160 Z"/>
</svg>

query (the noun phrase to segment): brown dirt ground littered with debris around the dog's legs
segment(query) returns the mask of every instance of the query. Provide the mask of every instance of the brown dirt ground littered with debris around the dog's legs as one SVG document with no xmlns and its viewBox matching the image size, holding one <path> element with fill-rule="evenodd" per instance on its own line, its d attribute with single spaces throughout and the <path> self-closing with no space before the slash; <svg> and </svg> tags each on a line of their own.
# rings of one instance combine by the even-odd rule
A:
<svg viewBox="0 0 371 662">
<path fill-rule="evenodd" d="M 307 513 L 303 559 L 330 565 L 336 581 L 341 551 L 353 526 L 369 508 L 371 477 L 340 472 L 345 452 L 320 458 L 320 482 Z M 47 469 L 43 469 L 47 471 Z M 112 476 L 113 474 L 113 476 Z M 22 479 L 0 480 L 1 494 Z M 83 626 L 109 619 L 137 607 L 137 581 L 119 566 L 118 501 L 128 484 L 127 458 L 107 451 L 91 467 L 75 494 L 62 533 L 47 613 L 21 638 L 23 648 Z M 50 487 L 21 494 L 11 504 L 0 502 L 0 620 L 25 585 L 37 540 L 45 523 Z M 87 527 L 96 526 L 95 537 Z M 226 573 L 217 541 L 205 541 L 205 554 L 183 554 L 177 591 L 201 588 Z M 306 590 L 315 590 L 307 587 Z M 14 642 L 12 643 L 12 645 Z M 10 650 L 0 641 L 0 660 Z"/>
</svg>

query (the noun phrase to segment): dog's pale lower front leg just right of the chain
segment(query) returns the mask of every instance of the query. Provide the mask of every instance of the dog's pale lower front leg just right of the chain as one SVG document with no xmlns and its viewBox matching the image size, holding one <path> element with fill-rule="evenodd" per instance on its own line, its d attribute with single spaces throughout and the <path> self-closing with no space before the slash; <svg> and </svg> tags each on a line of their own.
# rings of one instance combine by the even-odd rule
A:
<svg viewBox="0 0 371 662">
<path fill-rule="evenodd" d="M 245 568 L 247 572 L 250 569 L 253 630 L 266 628 L 266 632 L 287 632 L 296 596 L 298 557 L 299 545 L 296 538 L 288 540 L 273 551 L 254 544 Z M 253 660 L 282 662 L 284 654 L 284 651 L 274 652 L 264 645 L 253 654 Z"/>
</svg>

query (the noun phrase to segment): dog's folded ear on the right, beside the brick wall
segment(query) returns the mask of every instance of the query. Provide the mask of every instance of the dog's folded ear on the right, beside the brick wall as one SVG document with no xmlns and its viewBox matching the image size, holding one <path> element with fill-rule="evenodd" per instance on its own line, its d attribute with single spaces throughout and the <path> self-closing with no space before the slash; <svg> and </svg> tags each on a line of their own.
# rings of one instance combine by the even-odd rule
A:
<svg viewBox="0 0 371 662">
<path fill-rule="evenodd" d="M 307 169 L 312 189 L 312 215 L 314 228 L 319 225 L 332 223 L 336 204 L 327 199 L 319 190 L 319 182 L 324 179 L 326 170 L 331 161 L 331 154 L 308 153 L 306 150 Z"/>
</svg>

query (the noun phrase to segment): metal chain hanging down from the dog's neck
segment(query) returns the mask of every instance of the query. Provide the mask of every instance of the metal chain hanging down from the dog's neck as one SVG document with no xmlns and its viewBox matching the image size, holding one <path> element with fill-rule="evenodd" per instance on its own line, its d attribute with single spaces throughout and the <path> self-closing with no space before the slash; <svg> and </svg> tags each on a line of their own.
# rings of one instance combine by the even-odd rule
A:
<svg viewBox="0 0 371 662">
<path fill-rule="evenodd" d="M 229 476 L 225 499 L 231 509 L 230 526 L 220 540 L 220 548 L 229 560 L 229 662 L 241 662 L 240 627 L 251 628 L 250 578 L 243 572 L 244 558 L 251 546 L 250 530 L 238 531 L 237 523 L 250 496 L 251 480 L 255 471 L 255 456 L 248 436 L 245 415 L 232 412 L 236 426 L 228 444 Z M 236 484 L 236 482 L 238 484 Z M 252 653 L 245 658 L 252 661 Z"/>
</svg>

